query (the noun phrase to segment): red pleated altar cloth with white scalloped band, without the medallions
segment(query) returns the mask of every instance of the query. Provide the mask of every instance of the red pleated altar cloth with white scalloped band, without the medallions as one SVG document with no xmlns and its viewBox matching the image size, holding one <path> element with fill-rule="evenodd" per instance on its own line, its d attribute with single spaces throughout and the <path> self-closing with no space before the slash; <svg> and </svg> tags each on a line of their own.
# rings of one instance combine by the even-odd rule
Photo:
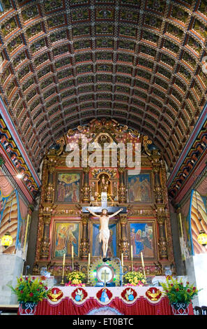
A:
<svg viewBox="0 0 207 329">
<path fill-rule="evenodd" d="M 88 315 L 88 314 L 111 314 L 111 315 L 173 315 L 169 300 L 163 295 L 156 301 L 151 302 L 148 299 L 146 292 L 150 287 L 133 288 L 137 296 L 135 301 L 127 302 L 123 298 L 126 287 L 107 288 L 107 293 L 110 292 L 107 303 L 100 302 L 98 293 L 103 288 L 84 287 L 86 294 L 83 302 L 75 301 L 75 292 L 77 287 L 59 287 L 61 290 L 61 299 L 52 302 L 51 300 L 43 300 L 39 302 L 36 315 Z M 55 289 L 55 288 L 54 288 Z M 160 287 L 159 287 L 160 289 Z M 161 289 L 160 289 L 161 290 Z M 56 292 L 56 291 L 55 291 Z M 189 315 L 193 315 L 192 304 L 189 307 Z M 97 313 L 97 311 L 99 313 Z M 95 313 L 96 312 L 96 313 Z"/>
</svg>

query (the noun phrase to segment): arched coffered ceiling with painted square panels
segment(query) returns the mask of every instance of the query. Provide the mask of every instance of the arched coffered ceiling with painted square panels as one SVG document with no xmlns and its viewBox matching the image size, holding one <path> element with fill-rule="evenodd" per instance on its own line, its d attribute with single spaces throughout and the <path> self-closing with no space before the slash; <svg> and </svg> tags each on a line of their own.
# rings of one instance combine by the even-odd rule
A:
<svg viewBox="0 0 207 329">
<path fill-rule="evenodd" d="M 0 8 L 1 97 L 36 169 L 68 129 L 102 117 L 147 134 L 173 169 L 206 104 L 206 0 Z"/>
</svg>

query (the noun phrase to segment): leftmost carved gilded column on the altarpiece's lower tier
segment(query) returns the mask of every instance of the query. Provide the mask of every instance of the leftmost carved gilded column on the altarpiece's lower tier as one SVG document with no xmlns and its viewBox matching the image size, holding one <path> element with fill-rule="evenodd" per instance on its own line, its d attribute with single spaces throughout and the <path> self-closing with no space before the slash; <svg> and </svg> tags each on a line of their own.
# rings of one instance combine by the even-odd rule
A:
<svg viewBox="0 0 207 329">
<path fill-rule="evenodd" d="M 49 257 L 49 225 L 52 218 L 52 205 L 45 206 L 43 209 L 43 237 L 40 244 L 40 259 L 47 259 Z"/>
</svg>

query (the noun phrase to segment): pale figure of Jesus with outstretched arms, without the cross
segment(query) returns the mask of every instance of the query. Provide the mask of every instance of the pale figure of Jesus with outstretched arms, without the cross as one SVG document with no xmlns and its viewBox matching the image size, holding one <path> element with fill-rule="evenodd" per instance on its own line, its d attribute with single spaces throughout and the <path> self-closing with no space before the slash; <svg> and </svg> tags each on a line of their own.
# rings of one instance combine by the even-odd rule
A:
<svg viewBox="0 0 207 329">
<path fill-rule="evenodd" d="M 119 209 L 112 215 L 108 215 L 107 209 L 102 209 L 102 213 L 100 215 L 93 213 L 89 208 L 86 208 L 87 211 L 89 211 L 90 214 L 92 214 L 95 217 L 100 218 L 100 230 L 99 230 L 99 241 L 102 241 L 102 253 L 103 257 L 107 256 L 107 249 L 108 249 L 108 243 L 109 243 L 109 219 L 116 216 L 118 213 L 120 213 L 123 208 Z"/>
</svg>

